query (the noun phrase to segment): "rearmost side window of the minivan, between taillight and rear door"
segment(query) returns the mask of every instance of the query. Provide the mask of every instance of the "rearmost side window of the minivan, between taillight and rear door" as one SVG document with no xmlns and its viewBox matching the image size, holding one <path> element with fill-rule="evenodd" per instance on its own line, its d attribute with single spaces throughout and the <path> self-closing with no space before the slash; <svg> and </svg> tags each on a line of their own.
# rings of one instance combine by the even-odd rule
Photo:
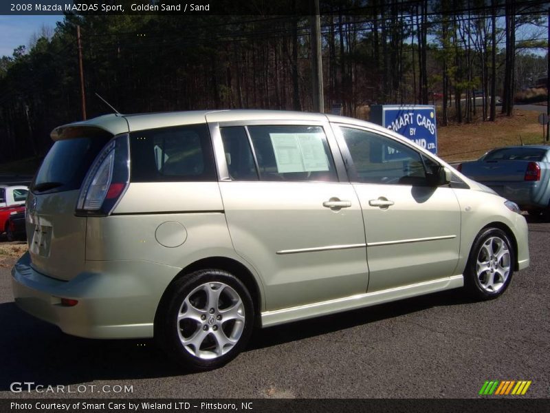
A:
<svg viewBox="0 0 550 413">
<path fill-rule="evenodd" d="M 204 124 L 134 132 L 130 151 L 132 182 L 217 180 Z"/>
</svg>

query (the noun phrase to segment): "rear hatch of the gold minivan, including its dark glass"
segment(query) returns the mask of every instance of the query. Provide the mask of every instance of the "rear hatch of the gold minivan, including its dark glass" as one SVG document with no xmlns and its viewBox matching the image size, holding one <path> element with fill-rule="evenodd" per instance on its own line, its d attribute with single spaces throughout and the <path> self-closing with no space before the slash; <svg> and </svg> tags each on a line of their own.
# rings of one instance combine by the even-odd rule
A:
<svg viewBox="0 0 550 413">
<path fill-rule="evenodd" d="M 83 271 L 86 221 L 76 215 L 80 187 L 91 165 L 113 135 L 97 127 L 52 133 L 57 140 L 30 187 L 27 237 L 34 270 L 69 280 Z"/>
</svg>

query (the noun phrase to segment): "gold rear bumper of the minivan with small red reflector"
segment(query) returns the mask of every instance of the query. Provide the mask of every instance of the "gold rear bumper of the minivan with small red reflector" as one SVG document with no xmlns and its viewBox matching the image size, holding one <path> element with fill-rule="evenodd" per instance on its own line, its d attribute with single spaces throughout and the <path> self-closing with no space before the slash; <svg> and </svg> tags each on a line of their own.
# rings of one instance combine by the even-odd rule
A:
<svg viewBox="0 0 550 413">
<path fill-rule="evenodd" d="M 70 281 L 34 271 L 29 253 L 12 269 L 19 308 L 70 335 L 94 339 L 153 337 L 153 321 L 166 286 L 181 268 L 143 261 L 86 262 Z M 61 305 L 61 298 L 78 300 Z"/>
</svg>

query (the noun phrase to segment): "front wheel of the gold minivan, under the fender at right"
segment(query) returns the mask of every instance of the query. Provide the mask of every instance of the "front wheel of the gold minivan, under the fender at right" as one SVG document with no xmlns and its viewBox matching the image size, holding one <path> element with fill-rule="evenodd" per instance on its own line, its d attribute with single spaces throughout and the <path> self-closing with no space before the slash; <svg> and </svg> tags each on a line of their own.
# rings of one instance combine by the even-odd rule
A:
<svg viewBox="0 0 550 413">
<path fill-rule="evenodd" d="M 516 258 L 508 235 L 498 228 L 483 229 L 476 237 L 466 264 L 464 283 L 475 299 L 502 295 L 511 281 Z"/>
</svg>

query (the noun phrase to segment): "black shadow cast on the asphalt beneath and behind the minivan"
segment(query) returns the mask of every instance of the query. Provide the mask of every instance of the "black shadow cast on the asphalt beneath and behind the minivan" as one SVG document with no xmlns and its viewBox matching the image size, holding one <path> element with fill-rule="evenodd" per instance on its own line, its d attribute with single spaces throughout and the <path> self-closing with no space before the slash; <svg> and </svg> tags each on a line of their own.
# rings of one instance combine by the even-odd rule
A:
<svg viewBox="0 0 550 413">
<path fill-rule="evenodd" d="M 468 302 L 456 291 L 415 297 L 347 313 L 256 330 L 245 352 L 399 317 L 433 306 Z M 14 381 L 69 385 L 94 380 L 150 379 L 182 372 L 153 339 L 95 340 L 73 337 L 23 313 L 14 302 L 0 304 L 0 391 Z"/>
</svg>

